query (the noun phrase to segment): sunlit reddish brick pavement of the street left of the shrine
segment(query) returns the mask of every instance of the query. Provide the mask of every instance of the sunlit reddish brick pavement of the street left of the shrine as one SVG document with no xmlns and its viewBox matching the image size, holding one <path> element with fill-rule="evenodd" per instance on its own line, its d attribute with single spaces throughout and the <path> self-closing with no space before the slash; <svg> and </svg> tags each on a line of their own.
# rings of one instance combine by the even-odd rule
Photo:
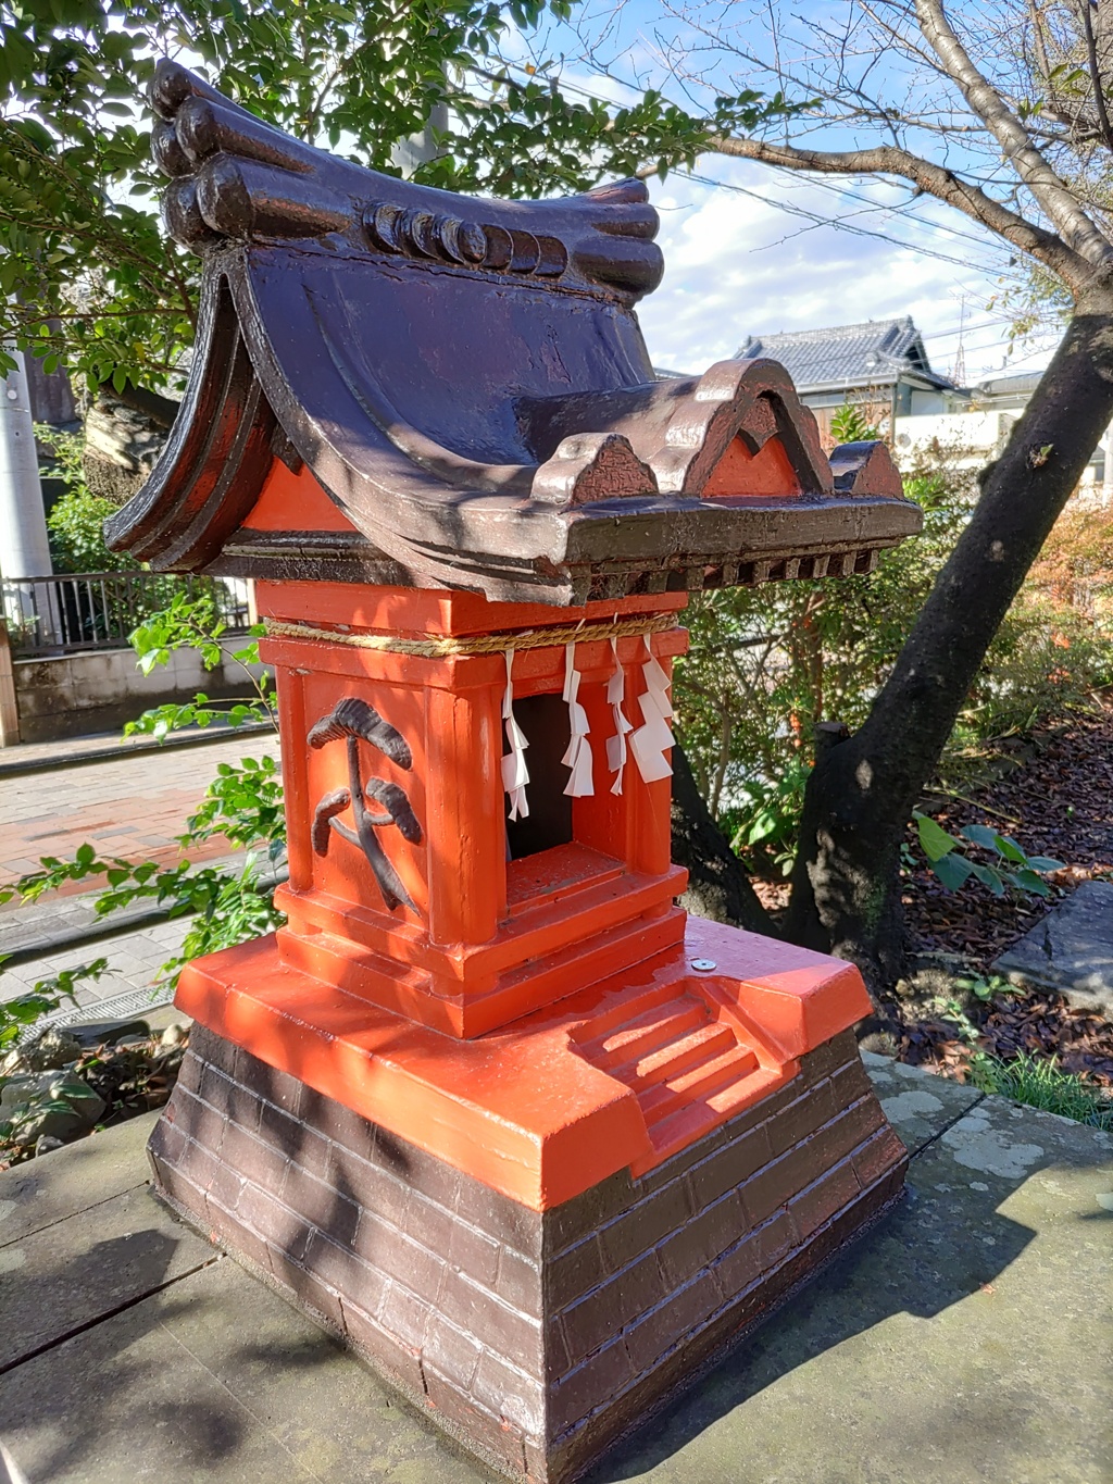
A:
<svg viewBox="0 0 1113 1484">
<path fill-rule="evenodd" d="M 142 749 L 82 766 L 0 775 L 0 884 L 39 867 L 39 858 L 73 856 L 86 840 L 102 855 L 172 864 L 175 841 L 220 763 L 276 754 L 270 733 L 174 749 Z M 199 846 L 196 859 L 227 853 L 227 841 Z M 89 889 L 74 883 L 74 890 Z M 3 919 L 0 917 L 0 923 Z"/>
</svg>

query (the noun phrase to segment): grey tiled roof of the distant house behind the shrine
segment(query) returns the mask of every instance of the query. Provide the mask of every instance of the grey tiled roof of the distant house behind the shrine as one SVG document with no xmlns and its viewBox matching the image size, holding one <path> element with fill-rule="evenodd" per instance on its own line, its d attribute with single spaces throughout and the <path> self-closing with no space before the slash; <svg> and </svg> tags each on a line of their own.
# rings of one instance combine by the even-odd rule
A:
<svg viewBox="0 0 1113 1484">
<path fill-rule="evenodd" d="M 896 381 L 939 389 L 954 386 L 932 371 L 920 331 L 908 315 L 902 319 L 868 319 L 862 325 L 835 325 L 833 329 L 748 335 L 738 359 L 754 356 L 779 361 L 801 395 L 838 387 L 892 386 Z"/>
</svg>

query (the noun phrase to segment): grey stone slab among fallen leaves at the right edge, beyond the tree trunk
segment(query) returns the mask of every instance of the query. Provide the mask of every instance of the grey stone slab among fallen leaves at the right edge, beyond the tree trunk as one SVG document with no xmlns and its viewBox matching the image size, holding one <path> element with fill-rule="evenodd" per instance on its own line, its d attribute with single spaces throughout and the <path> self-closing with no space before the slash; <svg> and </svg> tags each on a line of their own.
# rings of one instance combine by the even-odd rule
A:
<svg viewBox="0 0 1113 1484">
<path fill-rule="evenodd" d="M 1113 881 L 1083 881 L 993 969 L 1113 1020 Z"/>
</svg>

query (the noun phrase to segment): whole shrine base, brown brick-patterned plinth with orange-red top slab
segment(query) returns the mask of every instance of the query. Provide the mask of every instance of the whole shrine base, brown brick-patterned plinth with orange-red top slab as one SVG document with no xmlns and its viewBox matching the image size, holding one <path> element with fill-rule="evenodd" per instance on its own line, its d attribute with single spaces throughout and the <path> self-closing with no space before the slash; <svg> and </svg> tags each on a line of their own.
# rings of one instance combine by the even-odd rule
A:
<svg viewBox="0 0 1113 1484">
<path fill-rule="evenodd" d="M 901 1192 L 858 971 L 651 942 L 473 1040 L 273 938 L 181 976 L 156 1190 L 515 1480 L 574 1478 Z"/>
</svg>

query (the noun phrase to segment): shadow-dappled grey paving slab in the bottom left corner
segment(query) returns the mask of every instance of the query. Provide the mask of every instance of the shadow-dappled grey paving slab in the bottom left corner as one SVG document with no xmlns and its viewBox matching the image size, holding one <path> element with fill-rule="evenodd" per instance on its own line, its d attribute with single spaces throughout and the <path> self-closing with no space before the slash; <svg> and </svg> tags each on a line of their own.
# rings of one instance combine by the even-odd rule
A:
<svg viewBox="0 0 1113 1484">
<path fill-rule="evenodd" d="M 230 1260 L 0 1377 L 31 1484 L 481 1484 L 370 1371 Z"/>
</svg>

